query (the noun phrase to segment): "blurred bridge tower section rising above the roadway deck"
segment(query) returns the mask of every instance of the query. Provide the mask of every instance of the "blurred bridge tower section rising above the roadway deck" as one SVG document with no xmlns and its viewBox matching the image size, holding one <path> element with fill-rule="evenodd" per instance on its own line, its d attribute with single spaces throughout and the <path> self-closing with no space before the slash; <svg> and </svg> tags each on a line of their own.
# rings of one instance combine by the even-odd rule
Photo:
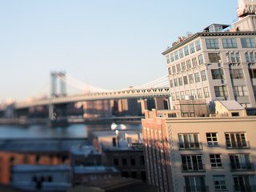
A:
<svg viewBox="0 0 256 192">
<path fill-rule="evenodd" d="M 51 77 L 51 97 L 66 96 L 66 72 L 52 72 Z M 58 87 L 59 84 L 59 87 Z"/>
</svg>

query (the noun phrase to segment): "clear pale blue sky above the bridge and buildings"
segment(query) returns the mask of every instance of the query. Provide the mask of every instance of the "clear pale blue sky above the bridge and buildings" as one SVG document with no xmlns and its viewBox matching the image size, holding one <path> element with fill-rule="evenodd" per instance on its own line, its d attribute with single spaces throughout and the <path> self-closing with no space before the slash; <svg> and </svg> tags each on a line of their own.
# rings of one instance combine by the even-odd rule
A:
<svg viewBox="0 0 256 192">
<path fill-rule="evenodd" d="M 179 36 L 237 19 L 236 0 L 0 0 L 0 102 L 50 94 L 50 72 L 107 90 L 167 74 Z M 67 93 L 82 93 L 67 86 Z"/>
</svg>

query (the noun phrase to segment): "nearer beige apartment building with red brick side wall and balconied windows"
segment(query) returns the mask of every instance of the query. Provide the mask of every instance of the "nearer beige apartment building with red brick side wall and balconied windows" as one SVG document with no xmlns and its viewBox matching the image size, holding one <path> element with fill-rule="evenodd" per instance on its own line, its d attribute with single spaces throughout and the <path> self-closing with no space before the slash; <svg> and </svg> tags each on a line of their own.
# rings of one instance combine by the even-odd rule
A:
<svg viewBox="0 0 256 192">
<path fill-rule="evenodd" d="M 256 118 L 233 104 L 219 102 L 218 114 L 202 118 L 146 111 L 147 182 L 161 192 L 255 191 Z"/>
</svg>

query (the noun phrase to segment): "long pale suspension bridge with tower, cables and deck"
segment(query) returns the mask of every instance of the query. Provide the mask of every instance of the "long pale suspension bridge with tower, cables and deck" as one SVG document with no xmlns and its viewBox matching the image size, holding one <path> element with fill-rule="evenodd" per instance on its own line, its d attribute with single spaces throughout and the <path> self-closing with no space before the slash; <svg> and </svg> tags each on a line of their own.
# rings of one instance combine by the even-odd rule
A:
<svg viewBox="0 0 256 192">
<path fill-rule="evenodd" d="M 22 109 L 31 106 L 44 106 L 48 104 L 61 104 L 68 102 L 95 101 L 114 98 L 157 98 L 169 97 L 169 82 L 167 76 L 155 79 L 139 86 L 130 86 L 121 90 L 106 90 L 88 83 L 79 81 L 64 72 L 51 74 L 51 97 L 34 99 L 26 102 L 16 102 L 15 108 Z M 58 87 L 59 84 L 59 87 Z M 82 91 L 82 94 L 66 94 L 66 85 L 73 86 Z"/>
</svg>

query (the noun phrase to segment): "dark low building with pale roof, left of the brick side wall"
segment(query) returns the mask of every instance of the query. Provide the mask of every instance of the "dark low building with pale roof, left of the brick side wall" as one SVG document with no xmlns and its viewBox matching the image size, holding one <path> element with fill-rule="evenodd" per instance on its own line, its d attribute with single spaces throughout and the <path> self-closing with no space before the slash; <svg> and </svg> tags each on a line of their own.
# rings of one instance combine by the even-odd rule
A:
<svg viewBox="0 0 256 192">
<path fill-rule="evenodd" d="M 102 151 L 102 164 L 115 166 L 122 177 L 146 181 L 142 134 L 135 130 L 94 132 L 94 146 Z"/>
</svg>

